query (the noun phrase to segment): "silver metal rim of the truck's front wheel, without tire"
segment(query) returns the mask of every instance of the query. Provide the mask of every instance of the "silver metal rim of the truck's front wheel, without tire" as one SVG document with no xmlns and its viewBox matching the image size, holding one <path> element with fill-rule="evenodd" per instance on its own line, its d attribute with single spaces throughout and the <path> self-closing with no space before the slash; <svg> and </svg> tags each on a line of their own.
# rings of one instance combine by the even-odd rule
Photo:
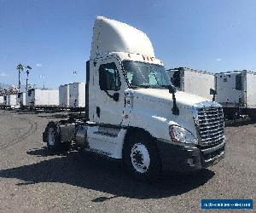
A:
<svg viewBox="0 0 256 213">
<path fill-rule="evenodd" d="M 131 147 L 131 164 L 137 172 L 147 172 L 150 164 L 150 157 L 145 145 L 136 143 Z"/>
</svg>

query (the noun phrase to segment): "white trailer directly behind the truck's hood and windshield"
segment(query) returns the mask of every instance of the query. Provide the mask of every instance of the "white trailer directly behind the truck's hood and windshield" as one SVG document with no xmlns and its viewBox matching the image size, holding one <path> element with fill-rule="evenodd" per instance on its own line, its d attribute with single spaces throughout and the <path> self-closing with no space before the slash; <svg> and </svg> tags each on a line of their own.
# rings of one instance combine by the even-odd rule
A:
<svg viewBox="0 0 256 213">
<path fill-rule="evenodd" d="M 172 84 L 180 91 L 212 100 L 210 89 L 214 89 L 214 74 L 179 67 L 166 70 Z"/>
</svg>

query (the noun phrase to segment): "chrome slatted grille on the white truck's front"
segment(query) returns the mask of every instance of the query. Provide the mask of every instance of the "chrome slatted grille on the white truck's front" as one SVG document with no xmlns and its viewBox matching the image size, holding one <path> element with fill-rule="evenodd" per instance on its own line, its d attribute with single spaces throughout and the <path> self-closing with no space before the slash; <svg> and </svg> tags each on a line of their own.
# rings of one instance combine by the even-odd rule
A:
<svg viewBox="0 0 256 213">
<path fill-rule="evenodd" d="M 222 107 L 197 109 L 201 146 L 215 147 L 224 141 L 224 113 Z"/>
</svg>

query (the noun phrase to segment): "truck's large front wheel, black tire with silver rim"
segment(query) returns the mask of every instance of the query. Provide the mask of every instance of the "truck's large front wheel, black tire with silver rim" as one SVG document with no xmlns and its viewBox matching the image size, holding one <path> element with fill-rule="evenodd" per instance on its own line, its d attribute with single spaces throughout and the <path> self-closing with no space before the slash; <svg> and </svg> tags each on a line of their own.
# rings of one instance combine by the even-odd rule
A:
<svg viewBox="0 0 256 213">
<path fill-rule="evenodd" d="M 160 177 L 160 156 L 154 140 L 141 132 L 131 135 L 124 145 L 124 162 L 133 176 L 143 181 L 155 181 Z"/>
</svg>

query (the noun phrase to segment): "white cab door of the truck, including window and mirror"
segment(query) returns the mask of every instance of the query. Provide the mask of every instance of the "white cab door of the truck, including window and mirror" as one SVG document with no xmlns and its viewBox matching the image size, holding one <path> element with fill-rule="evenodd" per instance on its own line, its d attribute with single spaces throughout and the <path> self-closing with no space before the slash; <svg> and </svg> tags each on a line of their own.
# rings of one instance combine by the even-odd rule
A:
<svg viewBox="0 0 256 213">
<path fill-rule="evenodd" d="M 121 124 L 126 85 L 119 60 L 114 57 L 98 60 L 94 79 L 94 121 L 99 124 Z"/>
</svg>

